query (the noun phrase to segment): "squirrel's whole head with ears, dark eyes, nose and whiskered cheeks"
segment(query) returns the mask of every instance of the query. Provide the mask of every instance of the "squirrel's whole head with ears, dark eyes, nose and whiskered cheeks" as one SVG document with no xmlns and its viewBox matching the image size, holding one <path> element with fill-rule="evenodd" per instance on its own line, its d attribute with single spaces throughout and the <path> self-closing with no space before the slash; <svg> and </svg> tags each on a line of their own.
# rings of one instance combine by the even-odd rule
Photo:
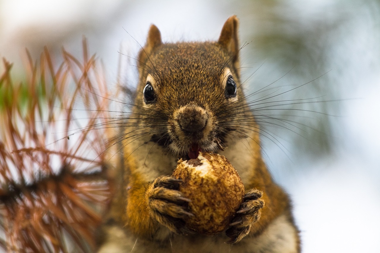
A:
<svg viewBox="0 0 380 253">
<path fill-rule="evenodd" d="M 151 141 L 193 158 L 221 149 L 236 130 L 233 117 L 245 104 L 238 23 L 236 16 L 227 19 L 217 42 L 163 43 L 158 28 L 150 26 L 137 59 L 135 108 Z"/>
</svg>

